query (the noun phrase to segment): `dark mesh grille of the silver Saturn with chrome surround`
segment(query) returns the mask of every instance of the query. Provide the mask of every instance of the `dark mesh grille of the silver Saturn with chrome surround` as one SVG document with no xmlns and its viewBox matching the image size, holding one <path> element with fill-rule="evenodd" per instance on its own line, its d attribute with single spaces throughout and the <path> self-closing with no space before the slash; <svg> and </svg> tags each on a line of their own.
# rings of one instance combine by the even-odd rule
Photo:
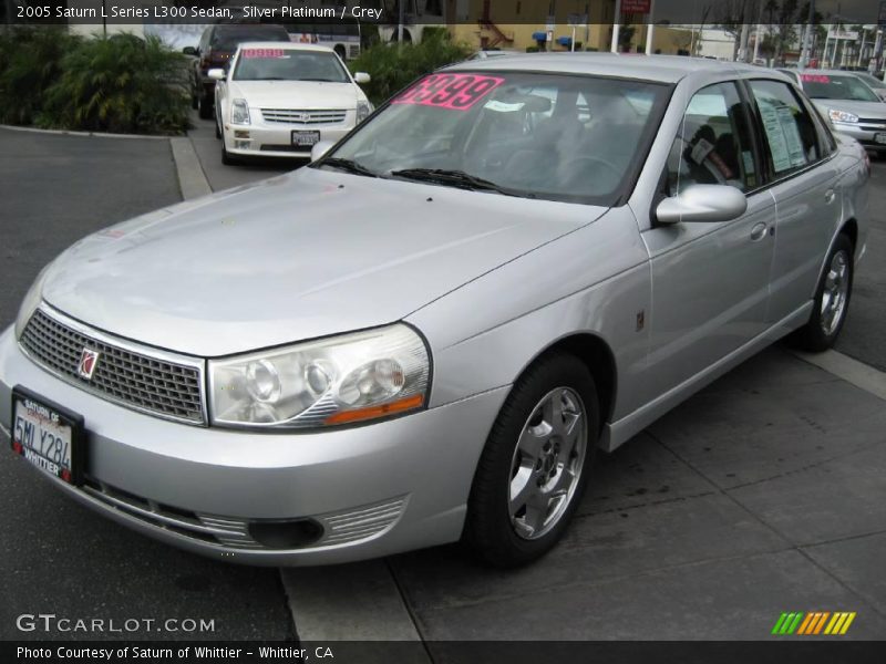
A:
<svg viewBox="0 0 886 664">
<path fill-rule="evenodd" d="M 38 309 L 22 333 L 21 345 L 38 363 L 109 401 L 165 417 L 205 423 L 199 369 L 125 350 L 96 336 Z M 101 353 L 91 380 L 78 374 L 84 347 Z"/>
</svg>

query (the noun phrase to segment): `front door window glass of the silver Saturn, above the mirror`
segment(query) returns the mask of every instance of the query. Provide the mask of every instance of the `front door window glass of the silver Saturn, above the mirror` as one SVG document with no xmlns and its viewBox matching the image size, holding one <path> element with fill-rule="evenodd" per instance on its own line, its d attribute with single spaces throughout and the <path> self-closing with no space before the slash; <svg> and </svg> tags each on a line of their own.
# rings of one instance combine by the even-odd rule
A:
<svg viewBox="0 0 886 664">
<path fill-rule="evenodd" d="M 699 90 L 683 114 L 668 156 L 668 195 L 690 185 L 760 185 L 746 105 L 734 83 Z"/>
</svg>

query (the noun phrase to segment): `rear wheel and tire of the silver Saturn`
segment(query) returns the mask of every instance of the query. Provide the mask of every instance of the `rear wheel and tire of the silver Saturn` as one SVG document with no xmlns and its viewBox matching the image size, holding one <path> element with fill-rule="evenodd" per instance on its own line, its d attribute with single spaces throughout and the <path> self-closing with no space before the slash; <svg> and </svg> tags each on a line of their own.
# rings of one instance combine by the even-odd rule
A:
<svg viewBox="0 0 886 664">
<path fill-rule="evenodd" d="M 834 345 L 849 311 L 855 268 L 853 253 L 852 240 L 839 234 L 827 255 L 824 273 L 815 290 L 812 315 L 789 338 L 796 347 L 821 353 Z"/>
</svg>

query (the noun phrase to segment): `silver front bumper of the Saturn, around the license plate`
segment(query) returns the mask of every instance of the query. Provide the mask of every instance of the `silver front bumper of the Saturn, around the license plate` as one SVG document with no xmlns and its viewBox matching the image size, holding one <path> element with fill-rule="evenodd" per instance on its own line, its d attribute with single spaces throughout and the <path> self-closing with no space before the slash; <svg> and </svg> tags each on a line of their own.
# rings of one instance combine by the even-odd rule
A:
<svg viewBox="0 0 886 664">
<path fill-rule="evenodd" d="M 0 335 L 7 443 L 14 385 L 84 417 L 86 484 L 75 488 L 37 470 L 69 496 L 179 548 L 271 566 L 349 562 L 457 540 L 507 392 L 317 434 L 214 429 L 137 413 L 65 383 L 27 357 L 10 328 Z M 256 523 L 300 519 L 319 523 L 322 537 L 279 548 L 250 536 Z"/>
</svg>

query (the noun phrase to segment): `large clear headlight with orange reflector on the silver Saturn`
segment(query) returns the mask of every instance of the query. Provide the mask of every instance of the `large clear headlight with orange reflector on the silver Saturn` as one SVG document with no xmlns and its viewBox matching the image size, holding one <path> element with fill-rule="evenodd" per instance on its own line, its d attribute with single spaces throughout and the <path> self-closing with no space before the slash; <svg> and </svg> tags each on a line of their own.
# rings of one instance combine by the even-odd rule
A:
<svg viewBox="0 0 886 664">
<path fill-rule="evenodd" d="M 379 330 L 209 361 L 212 421 L 320 428 L 421 408 L 431 367 L 411 328 Z"/>
</svg>

